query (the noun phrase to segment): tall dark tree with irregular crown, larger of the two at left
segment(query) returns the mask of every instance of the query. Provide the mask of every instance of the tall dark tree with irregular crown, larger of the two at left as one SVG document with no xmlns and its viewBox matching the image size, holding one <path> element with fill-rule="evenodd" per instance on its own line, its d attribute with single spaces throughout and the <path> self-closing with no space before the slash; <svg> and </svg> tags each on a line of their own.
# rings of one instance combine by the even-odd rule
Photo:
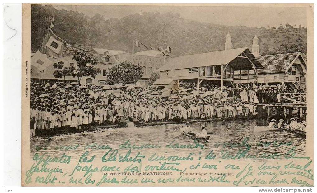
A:
<svg viewBox="0 0 317 193">
<path fill-rule="evenodd" d="M 77 77 L 78 84 L 80 85 L 81 77 L 83 76 L 91 76 L 96 78 L 96 75 L 101 73 L 100 68 L 95 68 L 92 65 L 96 65 L 97 59 L 89 55 L 83 49 L 76 51 L 74 53 L 73 59 L 77 62 L 76 67 L 71 66 L 71 75 L 75 78 Z M 87 65 L 90 64 L 90 65 Z"/>
</svg>

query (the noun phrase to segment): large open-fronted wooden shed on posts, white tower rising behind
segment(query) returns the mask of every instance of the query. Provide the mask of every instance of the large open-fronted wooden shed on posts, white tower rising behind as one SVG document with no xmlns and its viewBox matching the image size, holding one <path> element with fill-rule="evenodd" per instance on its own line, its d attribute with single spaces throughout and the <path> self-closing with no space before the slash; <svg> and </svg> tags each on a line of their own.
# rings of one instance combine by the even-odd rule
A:
<svg viewBox="0 0 317 193">
<path fill-rule="evenodd" d="M 225 50 L 171 59 L 159 69 L 160 79 L 173 79 L 178 86 L 182 82 L 192 82 L 198 90 L 203 81 L 218 84 L 221 88 L 225 84 L 233 86 L 234 71 L 237 70 L 252 70 L 257 74 L 257 69 L 263 68 L 260 62 L 247 47 L 231 49 L 228 35 Z"/>
</svg>

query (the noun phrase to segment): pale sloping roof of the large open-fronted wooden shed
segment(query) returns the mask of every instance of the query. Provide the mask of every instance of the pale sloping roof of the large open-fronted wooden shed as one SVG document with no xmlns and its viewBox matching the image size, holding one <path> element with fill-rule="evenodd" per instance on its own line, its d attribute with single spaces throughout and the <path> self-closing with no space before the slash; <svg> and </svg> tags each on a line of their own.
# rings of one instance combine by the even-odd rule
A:
<svg viewBox="0 0 317 193">
<path fill-rule="evenodd" d="M 159 69 L 159 71 L 228 64 L 246 50 L 246 54 L 248 55 L 249 59 L 251 59 L 251 61 L 253 60 L 252 62 L 256 65 L 256 67 L 262 67 L 261 64 L 249 51 L 248 47 L 244 47 L 177 57 L 168 61 Z"/>
</svg>

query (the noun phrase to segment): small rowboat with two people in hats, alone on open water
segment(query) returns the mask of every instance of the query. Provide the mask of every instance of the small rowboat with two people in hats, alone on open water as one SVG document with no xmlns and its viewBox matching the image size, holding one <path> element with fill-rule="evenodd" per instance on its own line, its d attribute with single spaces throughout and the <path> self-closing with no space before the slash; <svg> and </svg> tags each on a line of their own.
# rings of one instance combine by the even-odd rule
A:
<svg viewBox="0 0 317 193">
<path fill-rule="evenodd" d="M 210 136 L 207 135 L 207 131 L 204 125 L 201 125 L 201 132 L 199 134 L 195 134 L 192 133 L 192 129 L 190 126 L 190 122 L 186 122 L 185 127 L 181 128 L 181 132 L 182 134 L 174 137 L 174 139 L 177 139 L 181 136 L 185 136 L 187 138 L 193 139 L 193 140 L 197 140 L 197 141 L 204 141 L 204 142 L 208 142 Z"/>
</svg>

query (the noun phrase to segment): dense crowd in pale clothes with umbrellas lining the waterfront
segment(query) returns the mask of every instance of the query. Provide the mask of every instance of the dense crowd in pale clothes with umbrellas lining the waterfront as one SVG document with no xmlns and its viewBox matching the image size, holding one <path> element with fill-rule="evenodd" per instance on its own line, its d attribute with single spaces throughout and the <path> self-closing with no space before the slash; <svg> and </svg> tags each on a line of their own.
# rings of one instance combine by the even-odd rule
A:
<svg viewBox="0 0 317 193">
<path fill-rule="evenodd" d="M 121 116 L 140 122 L 254 116 L 259 102 L 282 102 L 285 87 L 203 85 L 178 89 L 134 84 L 79 86 L 31 83 L 31 136 L 36 129 L 83 128 L 112 124 Z"/>
</svg>

